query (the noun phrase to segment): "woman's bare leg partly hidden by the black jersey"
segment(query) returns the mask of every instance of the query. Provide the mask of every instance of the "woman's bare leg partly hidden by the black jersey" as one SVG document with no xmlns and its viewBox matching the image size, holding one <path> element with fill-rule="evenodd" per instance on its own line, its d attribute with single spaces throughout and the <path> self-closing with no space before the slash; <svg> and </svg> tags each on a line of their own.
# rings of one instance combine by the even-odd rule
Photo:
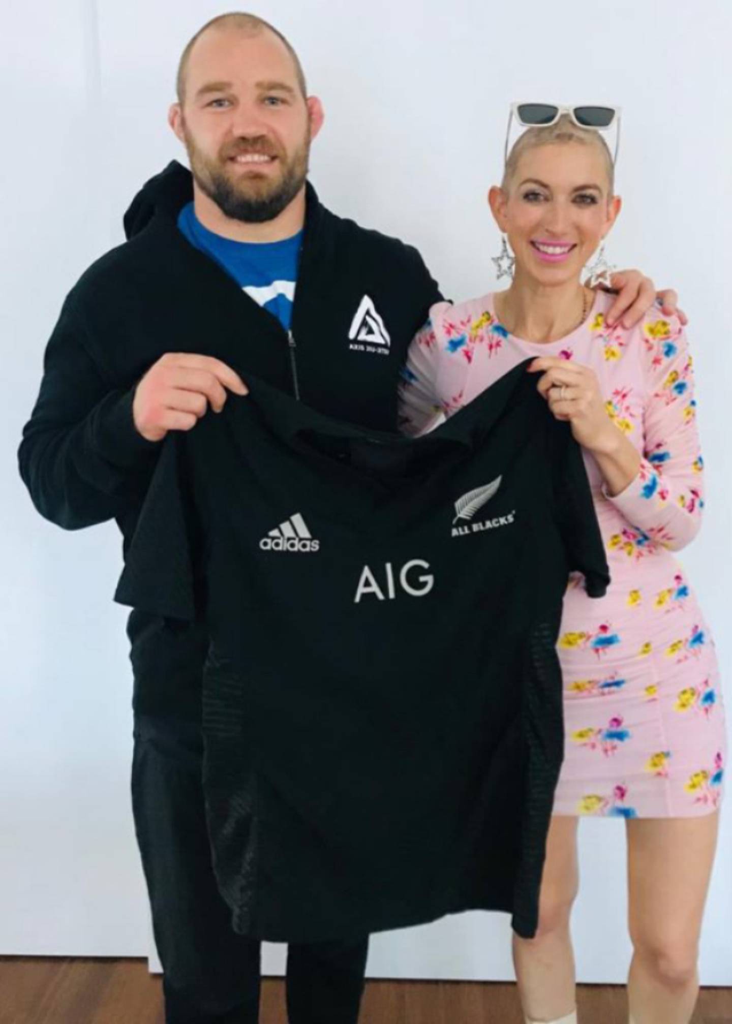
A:
<svg viewBox="0 0 732 1024">
<path fill-rule="evenodd" d="M 561 1021 L 574 1012 L 574 954 L 569 915 L 577 894 L 577 818 L 555 815 L 532 939 L 514 934 L 513 959 L 521 1006 L 529 1021 Z"/>
</svg>

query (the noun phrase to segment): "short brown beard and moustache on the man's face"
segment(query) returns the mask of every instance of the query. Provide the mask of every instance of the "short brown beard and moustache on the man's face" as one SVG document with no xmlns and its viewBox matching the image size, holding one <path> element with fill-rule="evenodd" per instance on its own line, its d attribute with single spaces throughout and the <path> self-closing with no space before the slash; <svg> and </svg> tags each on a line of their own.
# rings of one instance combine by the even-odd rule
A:
<svg viewBox="0 0 732 1024">
<path fill-rule="evenodd" d="M 276 156 L 282 173 L 273 180 L 268 180 L 268 176 L 264 175 L 254 179 L 242 175 L 240 181 L 226 173 L 220 161 L 213 161 L 205 156 L 186 128 L 183 131 L 193 178 L 201 190 L 232 220 L 242 220 L 250 224 L 274 220 L 292 203 L 305 183 L 310 155 L 309 131 L 303 143 L 290 159 L 284 150 L 273 152 L 272 144 L 262 136 L 242 139 L 239 148 L 229 156 L 233 156 L 234 153 L 238 155 L 264 153 L 267 156 Z"/>
</svg>

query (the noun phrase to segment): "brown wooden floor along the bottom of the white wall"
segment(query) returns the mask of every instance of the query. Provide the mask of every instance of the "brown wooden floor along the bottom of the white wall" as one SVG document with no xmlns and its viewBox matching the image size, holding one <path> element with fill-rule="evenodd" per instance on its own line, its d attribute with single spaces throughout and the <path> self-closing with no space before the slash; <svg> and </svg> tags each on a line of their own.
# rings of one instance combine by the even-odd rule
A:
<svg viewBox="0 0 732 1024">
<path fill-rule="evenodd" d="M 627 1024 L 621 987 L 583 985 L 580 1024 Z M 0 957 L 0 1024 L 164 1024 L 144 959 Z M 262 983 L 260 1024 L 287 1024 L 283 982 Z M 514 985 L 371 981 L 359 1024 L 522 1024 Z M 693 1024 L 732 1024 L 732 989 L 702 991 Z"/>
</svg>

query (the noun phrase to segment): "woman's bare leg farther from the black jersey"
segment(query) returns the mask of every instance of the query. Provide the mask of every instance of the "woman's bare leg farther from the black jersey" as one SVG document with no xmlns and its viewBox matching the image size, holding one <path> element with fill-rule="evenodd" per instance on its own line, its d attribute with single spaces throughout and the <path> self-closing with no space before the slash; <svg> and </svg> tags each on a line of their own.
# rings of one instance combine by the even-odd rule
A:
<svg viewBox="0 0 732 1024">
<path fill-rule="evenodd" d="M 719 812 L 628 821 L 633 1024 L 688 1024 Z"/>
</svg>

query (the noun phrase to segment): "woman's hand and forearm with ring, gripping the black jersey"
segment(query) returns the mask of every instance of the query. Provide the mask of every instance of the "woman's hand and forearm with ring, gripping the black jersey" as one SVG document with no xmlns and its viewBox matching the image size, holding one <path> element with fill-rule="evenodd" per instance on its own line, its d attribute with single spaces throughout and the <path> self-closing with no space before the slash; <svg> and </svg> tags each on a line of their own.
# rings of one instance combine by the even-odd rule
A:
<svg viewBox="0 0 732 1024">
<path fill-rule="evenodd" d="M 595 457 L 607 493 L 619 495 L 637 476 L 641 457 L 608 416 L 595 371 L 549 355 L 527 370 L 543 374 L 537 389 L 552 415 L 570 424 L 574 440 Z"/>
</svg>

